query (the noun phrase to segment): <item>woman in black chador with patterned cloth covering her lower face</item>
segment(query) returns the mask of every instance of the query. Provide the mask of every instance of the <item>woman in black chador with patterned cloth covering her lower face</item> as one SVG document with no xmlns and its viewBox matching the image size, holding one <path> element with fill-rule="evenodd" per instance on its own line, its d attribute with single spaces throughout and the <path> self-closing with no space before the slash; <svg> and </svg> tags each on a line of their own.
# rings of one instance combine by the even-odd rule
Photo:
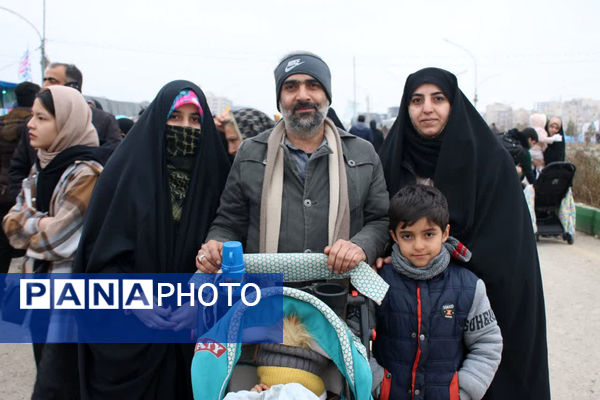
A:
<svg viewBox="0 0 600 400">
<path fill-rule="evenodd" d="M 229 161 L 200 88 L 165 85 L 100 176 L 77 272 L 192 273 L 215 216 Z M 182 328 L 177 311 L 135 314 Z M 82 344 L 84 399 L 192 398 L 191 344 Z"/>
</svg>

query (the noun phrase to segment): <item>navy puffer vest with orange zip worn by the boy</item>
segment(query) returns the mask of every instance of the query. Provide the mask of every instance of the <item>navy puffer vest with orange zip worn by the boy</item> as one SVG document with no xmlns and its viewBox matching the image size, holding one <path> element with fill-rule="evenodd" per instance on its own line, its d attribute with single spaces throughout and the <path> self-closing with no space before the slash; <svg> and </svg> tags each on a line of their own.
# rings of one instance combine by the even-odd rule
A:
<svg viewBox="0 0 600 400">
<path fill-rule="evenodd" d="M 389 398 L 458 398 L 455 373 L 477 277 L 452 262 L 428 281 L 405 278 L 391 265 L 380 274 L 390 289 L 377 310 L 373 352 L 391 375 Z"/>
</svg>

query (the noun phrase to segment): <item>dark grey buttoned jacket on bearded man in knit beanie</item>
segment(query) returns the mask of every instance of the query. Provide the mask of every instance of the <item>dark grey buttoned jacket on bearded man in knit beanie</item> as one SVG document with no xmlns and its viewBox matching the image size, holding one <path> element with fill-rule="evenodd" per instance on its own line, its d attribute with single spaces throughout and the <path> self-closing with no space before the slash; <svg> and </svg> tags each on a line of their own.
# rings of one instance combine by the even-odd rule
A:
<svg viewBox="0 0 600 400">
<path fill-rule="evenodd" d="M 379 156 L 373 146 L 338 129 L 348 177 L 350 240 L 360 246 L 367 262 L 381 255 L 388 242 L 388 192 Z M 235 157 L 217 217 L 206 240 L 239 240 L 245 252 L 259 251 L 262 184 L 271 130 L 245 140 Z M 329 212 L 329 146 L 316 150 L 302 182 L 288 148 L 284 149 L 284 187 L 279 252 L 323 252 L 327 246 Z"/>
</svg>

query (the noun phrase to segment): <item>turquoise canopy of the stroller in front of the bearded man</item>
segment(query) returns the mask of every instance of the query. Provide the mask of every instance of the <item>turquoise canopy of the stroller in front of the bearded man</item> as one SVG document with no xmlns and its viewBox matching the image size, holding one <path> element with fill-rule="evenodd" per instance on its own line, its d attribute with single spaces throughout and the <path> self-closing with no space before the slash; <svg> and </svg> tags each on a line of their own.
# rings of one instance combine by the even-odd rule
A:
<svg viewBox="0 0 600 400">
<path fill-rule="evenodd" d="M 276 288 L 274 288 L 276 289 Z M 267 291 L 263 296 L 269 296 Z M 228 313 L 214 329 L 229 329 L 229 337 L 239 337 L 244 307 Z M 348 383 L 357 400 L 372 399 L 372 375 L 366 351 L 347 325 L 318 298 L 301 290 L 283 288 L 283 315 L 294 314 Z M 226 394 L 233 369 L 241 355 L 241 343 L 219 343 L 210 333 L 196 345 L 192 361 L 194 398 L 221 400 Z M 250 388 L 248 388 L 250 389 Z"/>
</svg>

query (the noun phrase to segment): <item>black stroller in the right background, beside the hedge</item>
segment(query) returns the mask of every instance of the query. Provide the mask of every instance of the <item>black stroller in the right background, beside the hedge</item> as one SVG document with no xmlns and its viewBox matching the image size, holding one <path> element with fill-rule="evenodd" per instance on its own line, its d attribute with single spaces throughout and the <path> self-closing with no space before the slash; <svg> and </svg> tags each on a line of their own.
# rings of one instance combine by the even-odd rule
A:
<svg viewBox="0 0 600 400">
<path fill-rule="evenodd" d="M 562 236 L 573 244 L 574 205 L 570 193 L 575 165 L 570 162 L 548 164 L 535 182 L 536 240 L 540 236 Z M 572 215 L 571 215 L 572 214 Z"/>
</svg>

